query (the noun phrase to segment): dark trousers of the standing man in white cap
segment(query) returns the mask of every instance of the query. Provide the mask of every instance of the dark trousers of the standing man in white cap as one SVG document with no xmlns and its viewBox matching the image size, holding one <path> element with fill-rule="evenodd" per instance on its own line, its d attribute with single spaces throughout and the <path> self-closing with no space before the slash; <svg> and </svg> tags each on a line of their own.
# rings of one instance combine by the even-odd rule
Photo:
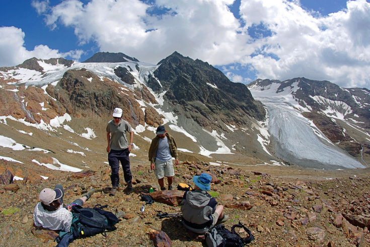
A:
<svg viewBox="0 0 370 247">
<path fill-rule="evenodd" d="M 131 181 L 132 175 L 130 170 L 130 159 L 128 155 L 130 151 L 128 148 L 124 150 L 111 150 L 108 154 L 108 162 L 110 167 L 112 168 L 112 174 L 110 179 L 112 181 L 112 187 L 118 188 L 119 186 L 119 162 L 121 161 L 122 169 L 123 169 L 123 176 L 126 182 Z"/>
</svg>

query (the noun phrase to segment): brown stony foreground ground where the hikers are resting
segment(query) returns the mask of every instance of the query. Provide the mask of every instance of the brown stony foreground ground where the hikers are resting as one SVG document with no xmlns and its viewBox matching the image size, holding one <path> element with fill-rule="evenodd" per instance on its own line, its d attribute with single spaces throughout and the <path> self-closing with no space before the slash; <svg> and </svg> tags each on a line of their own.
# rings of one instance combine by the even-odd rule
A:
<svg viewBox="0 0 370 247">
<path fill-rule="evenodd" d="M 184 229 L 180 218 L 159 219 L 157 211 L 180 212 L 179 206 L 158 201 L 146 205 L 141 193 L 157 188 L 154 173 L 147 166 L 133 165 L 133 191 L 108 195 L 109 169 L 82 173 L 56 172 L 53 177 L 17 180 L 0 185 L 0 245 L 55 246 L 56 242 L 31 232 L 32 213 L 39 192 L 61 183 L 65 188 L 64 202 L 71 202 L 94 188 L 96 193 L 85 206 L 108 205 L 122 221 L 117 229 L 84 239 L 69 246 L 154 246 L 149 232 L 166 232 L 173 246 L 206 246 L 202 236 Z M 0 172 L 5 172 L 6 165 Z M 299 167 L 226 167 L 210 166 L 205 162 L 181 162 L 175 168 L 175 184 L 191 185 L 192 176 L 212 174 L 211 190 L 225 205 L 230 220 L 228 229 L 239 221 L 255 236 L 249 245 L 255 246 L 369 246 L 370 195 L 368 169 L 347 171 L 317 171 Z M 4 174 L 4 173 L 3 173 Z M 123 176 L 121 176 L 123 177 Z M 325 178 L 326 177 L 326 178 Z M 332 179 L 328 179 L 328 178 Z M 240 232 L 241 235 L 245 234 Z"/>
</svg>

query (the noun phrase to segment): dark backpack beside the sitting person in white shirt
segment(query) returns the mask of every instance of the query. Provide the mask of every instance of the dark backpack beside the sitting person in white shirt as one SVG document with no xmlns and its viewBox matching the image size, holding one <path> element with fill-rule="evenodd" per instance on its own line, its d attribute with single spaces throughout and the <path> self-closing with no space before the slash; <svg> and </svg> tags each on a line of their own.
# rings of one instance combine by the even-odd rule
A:
<svg viewBox="0 0 370 247">
<path fill-rule="evenodd" d="M 106 231 L 115 230 L 116 223 L 121 221 L 112 212 L 102 210 L 108 205 L 96 205 L 94 208 L 83 208 L 79 205 L 72 206 L 73 220 L 70 232 L 73 238 L 92 236 Z"/>
</svg>

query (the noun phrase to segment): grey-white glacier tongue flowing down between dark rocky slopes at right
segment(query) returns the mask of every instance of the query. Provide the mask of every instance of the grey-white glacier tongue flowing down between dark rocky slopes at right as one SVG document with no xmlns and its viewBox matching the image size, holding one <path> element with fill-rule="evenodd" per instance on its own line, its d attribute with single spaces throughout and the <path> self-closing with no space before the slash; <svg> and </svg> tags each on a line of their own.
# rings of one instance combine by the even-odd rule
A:
<svg viewBox="0 0 370 247">
<path fill-rule="evenodd" d="M 268 112 L 267 128 L 276 155 L 304 167 L 323 169 L 365 168 L 360 162 L 336 147 L 313 122 L 301 112 L 310 111 L 292 96 L 297 84 L 276 93 L 280 84 L 249 87 L 253 97 L 261 101 Z"/>
</svg>

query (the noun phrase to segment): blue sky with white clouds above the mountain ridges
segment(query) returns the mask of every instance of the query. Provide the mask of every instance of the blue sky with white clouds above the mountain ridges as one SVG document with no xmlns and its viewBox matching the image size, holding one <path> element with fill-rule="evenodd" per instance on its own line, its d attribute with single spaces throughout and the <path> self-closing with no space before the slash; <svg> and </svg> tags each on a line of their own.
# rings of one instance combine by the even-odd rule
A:
<svg viewBox="0 0 370 247">
<path fill-rule="evenodd" d="M 0 0 L 0 67 L 99 51 L 174 51 L 233 82 L 306 77 L 370 88 L 370 0 Z"/>
</svg>

